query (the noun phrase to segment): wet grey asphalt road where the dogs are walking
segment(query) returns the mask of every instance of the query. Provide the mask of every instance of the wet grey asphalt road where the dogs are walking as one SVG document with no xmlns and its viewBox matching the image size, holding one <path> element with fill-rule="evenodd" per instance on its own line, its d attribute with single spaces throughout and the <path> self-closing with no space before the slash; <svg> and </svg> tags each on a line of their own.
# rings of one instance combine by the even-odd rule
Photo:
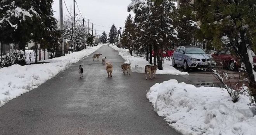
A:
<svg viewBox="0 0 256 135">
<path fill-rule="evenodd" d="M 107 78 L 101 61 L 92 55 L 69 66 L 46 83 L 0 107 L 1 135 L 178 135 L 154 111 L 146 93 L 169 79 L 191 83 L 182 76 L 124 75 L 118 52 L 102 46 L 114 67 Z M 101 57 L 100 57 L 101 59 Z M 84 64 L 79 78 L 78 65 Z"/>
</svg>

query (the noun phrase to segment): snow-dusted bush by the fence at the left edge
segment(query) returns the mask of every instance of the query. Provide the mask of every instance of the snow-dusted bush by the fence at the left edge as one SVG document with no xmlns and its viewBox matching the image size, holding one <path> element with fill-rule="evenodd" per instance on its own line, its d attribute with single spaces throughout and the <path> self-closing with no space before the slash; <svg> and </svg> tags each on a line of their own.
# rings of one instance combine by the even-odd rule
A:
<svg viewBox="0 0 256 135">
<path fill-rule="evenodd" d="M 9 67 L 13 64 L 26 65 L 26 56 L 22 50 L 15 50 L 0 57 L 0 68 Z"/>
</svg>

